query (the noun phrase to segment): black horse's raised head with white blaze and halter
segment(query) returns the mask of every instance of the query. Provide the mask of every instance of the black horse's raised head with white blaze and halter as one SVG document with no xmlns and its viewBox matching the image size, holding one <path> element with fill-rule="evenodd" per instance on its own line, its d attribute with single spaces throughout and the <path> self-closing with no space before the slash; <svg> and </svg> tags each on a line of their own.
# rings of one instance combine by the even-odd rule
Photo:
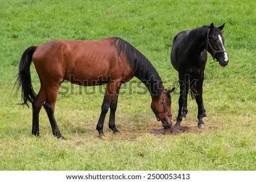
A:
<svg viewBox="0 0 256 182">
<path fill-rule="evenodd" d="M 224 48 L 224 37 L 222 36 L 222 29 L 224 28 L 225 23 L 220 27 L 214 27 L 214 24 L 211 23 L 207 32 L 207 51 L 212 54 L 213 60 L 218 61 L 218 63 L 225 67 L 228 65 L 229 57 L 228 53 Z"/>
</svg>

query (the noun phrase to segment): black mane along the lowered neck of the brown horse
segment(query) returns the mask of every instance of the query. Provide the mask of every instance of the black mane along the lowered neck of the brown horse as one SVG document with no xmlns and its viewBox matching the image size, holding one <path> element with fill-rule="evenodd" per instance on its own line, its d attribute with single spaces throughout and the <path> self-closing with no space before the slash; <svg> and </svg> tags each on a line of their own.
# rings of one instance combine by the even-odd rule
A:
<svg viewBox="0 0 256 182">
<path fill-rule="evenodd" d="M 134 76 L 145 84 L 151 96 L 159 98 L 163 82 L 155 67 L 134 46 L 118 37 L 113 37 L 113 39 L 113 44 L 117 47 L 118 53 L 126 54 L 128 63 L 133 67 Z"/>
</svg>

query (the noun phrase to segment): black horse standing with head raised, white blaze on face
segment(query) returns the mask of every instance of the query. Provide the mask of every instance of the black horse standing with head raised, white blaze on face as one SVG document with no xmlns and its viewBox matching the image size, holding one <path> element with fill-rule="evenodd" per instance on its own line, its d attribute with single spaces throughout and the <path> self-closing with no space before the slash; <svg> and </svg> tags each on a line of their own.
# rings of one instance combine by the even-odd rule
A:
<svg viewBox="0 0 256 182">
<path fill-rule="evenodd" d="M 206 117 L 203 104 L 203 81 L 204 70 L 207 64 L 207 52 L 213 60 L 217 61 L 222 67 L 228 65 L 229 58 L 224 48 L 224 37 L 220 27 L 203 26 L 192 30 L 177 33 L 173 39 L 171 49 L 171 64 L 179 73 L 179 112 L 177 115 L 176 126 L 180 125 L 183 117 L 188 113 L 187 95 L 190 90 L 192 99 L 196 98 L 198 107 L 197 119 L 198 128 L 204 128 L 203 117 Z"/>
</svg>

